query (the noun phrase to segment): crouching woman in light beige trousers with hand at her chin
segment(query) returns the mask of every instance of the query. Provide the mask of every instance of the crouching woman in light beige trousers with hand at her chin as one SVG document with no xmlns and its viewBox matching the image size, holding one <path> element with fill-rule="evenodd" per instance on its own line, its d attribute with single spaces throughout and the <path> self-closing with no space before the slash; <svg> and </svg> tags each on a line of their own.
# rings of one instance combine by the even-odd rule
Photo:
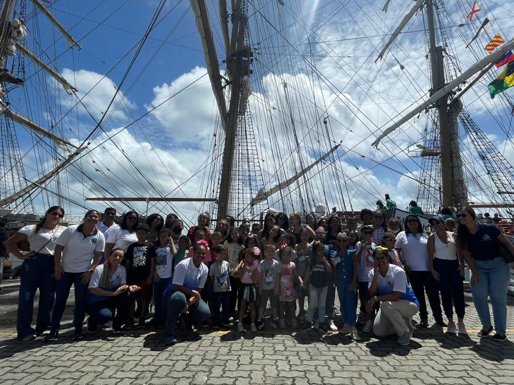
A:
<svg viewBox="0 0 514 385">
<path fill-rule="evenodd" d="M 378 246 L 373 252 L 375 268 L 369 273 L 367 309 L 371 311 L 376 302 L 382 302 L 373 323 L 377 337 L 398 335 L 398 343 L 408 345 L 412 337 L 411 318 L 419 312 L 419 302 L 407 283 L 401 267 L 388 262 L 386 247 Z"/>
</svg>

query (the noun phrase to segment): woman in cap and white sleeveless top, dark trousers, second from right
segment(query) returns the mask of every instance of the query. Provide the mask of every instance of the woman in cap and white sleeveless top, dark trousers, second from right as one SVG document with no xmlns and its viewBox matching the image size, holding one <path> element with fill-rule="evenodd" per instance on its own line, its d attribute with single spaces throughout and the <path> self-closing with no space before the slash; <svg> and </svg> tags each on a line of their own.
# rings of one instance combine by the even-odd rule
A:
<svg viewBox="0 0 514 385">
<path fill-rule="evenodd" d="M 447 332 L 457 334 L 457 326 L 453 322 L 453 298 L 458 334 L 467 335 L 464 325 L 464 261 L 459 263 L 457 259 L 457 246 L 452 233 L 446 231 L 443 217 L 432 217 L 428 222 L 435 231 L 428 237 L 428 264 L 441 292 L 443 309 L 448 318 Z"/>
</svg>

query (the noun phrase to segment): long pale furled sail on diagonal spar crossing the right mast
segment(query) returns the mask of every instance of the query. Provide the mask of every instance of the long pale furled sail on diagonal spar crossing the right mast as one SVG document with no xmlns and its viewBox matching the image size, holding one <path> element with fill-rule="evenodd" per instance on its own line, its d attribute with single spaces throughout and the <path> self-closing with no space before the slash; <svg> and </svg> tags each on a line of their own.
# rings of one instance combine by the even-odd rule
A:
<svg viewBox="0 0 514 385">
<path fill-rule="evenodd" d="M 386 130 L 384 130 L 380 136 L 372 143 L 372 146 L 378 146 L 378 143 L 385 137 L 387 137 L 391 132 L 393 132 L 395 129 L 400 127 L 403 123 L 408 122 L 410 119 L 414 118 L 419 112 L 425 110 L 426 108 L 430 107 L 432 104 L 437 102 L 439 99 L 443 98 L 445 95 L 453 91 L 456 87 L 461 85 L 462 83 L 466 82 L 471 76 L 473 76 L 475 73 L 482 71 L 484 68 L 489 66 L 491 63 L 498 62 L 503 55 L 505 55 L 506 52 L 510 51 L 511 49 L 514 49 L 514 39 L 509 40 L 505 45 L 498 48 L 495 52 L 491 53 L 490 55 L 487 55 L 482 59 L 480 62 L 473 64 L 471 67 L 469 67 L 466 71 L 464 71 L 460 76 L 458 76 L 455 80 L 448 83 L 443 88 L 437 90 L 432 94 L 432 96 L 426 100 L 425 102 L 421 103 L 418 107 L 414 108 L 411 112 L 406 114 L 403 118 L 398 120 L 395 124 L 388 127 Z"/>
</svg>

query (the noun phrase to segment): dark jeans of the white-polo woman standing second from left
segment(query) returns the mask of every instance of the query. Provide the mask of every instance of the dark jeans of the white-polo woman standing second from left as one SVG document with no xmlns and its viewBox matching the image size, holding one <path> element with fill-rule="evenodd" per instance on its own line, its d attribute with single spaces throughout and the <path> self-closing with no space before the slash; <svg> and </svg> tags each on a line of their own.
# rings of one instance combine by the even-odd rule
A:
<svg viewBox="0 0 514 385">
<path fill-rule="evenodd" d="M 68 300 L 71 285 L 75 289 L 75 307 L 73 310 L 73 323 L 75 330 L 81 330 L 86 316 L 86 296 L 87 283 L 80 282 L 84 273 L 67 273 L 63 272 L 61 279 L 56 280 L 56 304 L 53 306 L 52 328 L 59 330 L 61 327 L 61 319 L 63 318 L 64 308 Z"/>
</svg>

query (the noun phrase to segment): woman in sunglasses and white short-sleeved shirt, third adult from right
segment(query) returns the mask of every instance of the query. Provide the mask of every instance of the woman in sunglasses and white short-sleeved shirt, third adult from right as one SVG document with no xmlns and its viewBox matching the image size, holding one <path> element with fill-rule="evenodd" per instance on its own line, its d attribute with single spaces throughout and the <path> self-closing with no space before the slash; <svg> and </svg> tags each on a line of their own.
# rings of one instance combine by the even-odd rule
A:
<svg viewBox="0 0 514 385">
<path fill-rule="evenodd" d="M 395 248 L 401 253 L 403 268 L 409 274 L 412 290 L 419 301 L 420 325 L 428 328 L 428 311 L 425 293 L 435 322 L 446 326 L 439 302 L 437 282 L 432 277 L 428 264 L 428 234 L 423 229 L 419 218 L 411 214 L 405 218 L 405 231 L 396 236 Z"/>
</svg>

